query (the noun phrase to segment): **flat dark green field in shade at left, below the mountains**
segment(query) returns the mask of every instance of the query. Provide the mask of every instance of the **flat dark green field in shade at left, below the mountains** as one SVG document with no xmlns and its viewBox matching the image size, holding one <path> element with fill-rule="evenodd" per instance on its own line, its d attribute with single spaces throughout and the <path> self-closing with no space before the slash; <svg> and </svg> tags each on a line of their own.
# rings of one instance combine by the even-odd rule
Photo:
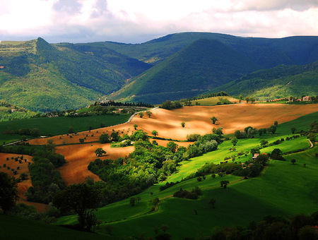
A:
<svg viewBox="0 0 318 240">
<path fill-rule="evenodd" d="M 96 116 L 84 116 L 84 117 L 41 117 L 33 119 L 20 119 L 14 121 L 0 122 L 0 133 L 5 130 L 17 130 L 20 128 L 39 128 L 42 136 L 56 136 L 64 133 L 68 133 L 69 127 L 73 126 L 74 132 L 86 131 L 91 128 L 100 128 L 100 124 L 104 123 L 105 126 L 113 126 L 122 124 L 128 121 L 130 115 L 96 115 Z M 0 143 L 4 141 L 18 140 L 21 136 L 11 136 L 1 134 Z"/>
</svg>

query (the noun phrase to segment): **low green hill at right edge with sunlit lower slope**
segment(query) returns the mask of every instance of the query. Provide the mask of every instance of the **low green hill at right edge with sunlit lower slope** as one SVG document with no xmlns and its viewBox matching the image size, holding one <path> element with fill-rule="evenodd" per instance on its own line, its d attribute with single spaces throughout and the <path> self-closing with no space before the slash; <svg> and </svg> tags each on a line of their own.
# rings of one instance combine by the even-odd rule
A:
<svg viewBox="0 0 318 240">
<path fill-rule="evenodd" d="M 230 95 L 258 97 L 272 100 L 281 97 L 318 95 L 318 61 L 302 66 L 280 65 L 256 71 L 213 89 Z"/>
</svg>

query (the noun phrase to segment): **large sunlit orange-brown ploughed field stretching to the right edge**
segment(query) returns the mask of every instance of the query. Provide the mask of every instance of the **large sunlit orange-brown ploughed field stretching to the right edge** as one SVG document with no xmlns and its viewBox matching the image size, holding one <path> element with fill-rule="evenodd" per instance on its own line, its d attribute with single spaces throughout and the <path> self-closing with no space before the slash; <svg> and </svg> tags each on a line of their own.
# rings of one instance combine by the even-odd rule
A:
<svg viewBox="0 0 318 240">
<path fill-rule="evenodd" d="M 100 180 L 98 176 L 88 171 L 88 164 L 95 160 L 95 149 L 103 148 L 107 155 L 100 159 L 116 160 L 118 157 L 125 157 L 134 150 L 134 147 L 110 148 L 110 144 L 87 143 L 98 141 L 102 133 L 119 131 L 122 134 L 134 133 L 134 124 L 151 134 L 151 131 L 158 131 L 158 137 L 185 140 L 191 133 L 211 133 L 213 127 L 222 127 L 223 133 L 234 133 L 236 130 L 243 130 L 247 126 L 254 128 L 266 128 L 273 124 L 273 121 L 283 123 L 291 121 L 299 116 L 318 111 L 318 104 L 288 105 L 288 104 L 229 104 L 221 106 L 192 106 L 181 109 L 166 110 L 155 109 L 152 115 L 138 115 L 130 123 L 117 126 L 99 128 L 92 131 L 84 131 L 69 136 L 54 136 L 52 139 L 57 145 L 79 143 L 79 138 L 86 138 L 86 143 L 76 145 L 63 145 L 56 148 L 66 158 L 66 164 L 59 168 L 62 179 L 69 184 L 83 182 L 87 176 Z M 218 119 L 216 125 L 211 122 L 211 117 Z M 184 121 L 185 127 L 181 123 Z M 70 138 L 71 136 L 71 138 Z M 156 140 L 160 145 L 167 145 L 168 141 Z M 33 145 L 47 143 L 47 138 L 37 138 L 29 141 Z M 178 142 L 179 146 L 187 146 L 189 143 Z"/>
</svg>

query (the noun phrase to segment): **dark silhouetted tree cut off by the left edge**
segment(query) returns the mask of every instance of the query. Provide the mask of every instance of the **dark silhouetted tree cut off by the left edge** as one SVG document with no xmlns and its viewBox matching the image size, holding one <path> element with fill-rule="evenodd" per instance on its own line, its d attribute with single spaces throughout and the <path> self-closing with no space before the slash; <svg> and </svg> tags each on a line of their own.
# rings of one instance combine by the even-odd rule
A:
<svg viewBox="0 0 318 240">
<path fill-rule="evenodd" d="M 0 207 L 4 214 L 16 205 L 18 198 L 16 179 L 6 172 L 0 172 Z"/>
</svg>

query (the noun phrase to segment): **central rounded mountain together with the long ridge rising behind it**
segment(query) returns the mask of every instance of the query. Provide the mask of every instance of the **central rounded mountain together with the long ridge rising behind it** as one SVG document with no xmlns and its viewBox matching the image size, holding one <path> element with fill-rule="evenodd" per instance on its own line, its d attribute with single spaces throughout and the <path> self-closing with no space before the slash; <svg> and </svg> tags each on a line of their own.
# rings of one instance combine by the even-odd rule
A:
<svg viewBox="0 0 318 240">
<path fill-rule="evenodd" d="M 204 43 L 208 40 L 214 41 L 218 50 L 213 52 L 207 47 Z M 318 37 L 266 39 L 184 32 L 144 44 L 98 44 L 155 64 L 109 96 L 110 99 L 153 104 L 192 97 L 208 88 L 216 92 L 213 88 L 252 71 L 318 60 Z M 181 50 L 174 53 L 177 49 Z"/>
</svg>

